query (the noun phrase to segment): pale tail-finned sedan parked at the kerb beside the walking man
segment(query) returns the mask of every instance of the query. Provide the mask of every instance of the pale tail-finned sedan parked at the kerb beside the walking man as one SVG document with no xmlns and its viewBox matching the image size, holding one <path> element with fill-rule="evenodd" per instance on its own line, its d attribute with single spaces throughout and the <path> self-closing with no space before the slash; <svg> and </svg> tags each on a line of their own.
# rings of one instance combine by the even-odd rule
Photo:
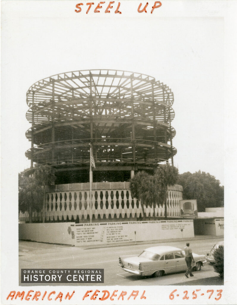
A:
<svg viewBox="0 0 237 305">
<path fill-rule="evenodd" d="M 193 253 L 193 270 L 199 271 L 207 262 L 204 255 Z M 179 248 L 171 246 L 150 247 L 138 256 L 121 259 L 119 267 L 124 271 L 141 275 L 162 276 L 167 273 L 186 271 L 185 254 Z"/>
</svg>

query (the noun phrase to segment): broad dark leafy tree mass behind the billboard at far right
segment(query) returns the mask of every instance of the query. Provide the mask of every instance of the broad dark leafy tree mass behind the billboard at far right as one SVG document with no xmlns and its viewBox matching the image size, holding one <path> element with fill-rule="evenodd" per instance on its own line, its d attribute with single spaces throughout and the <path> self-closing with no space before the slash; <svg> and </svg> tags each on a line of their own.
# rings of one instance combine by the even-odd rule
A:
<svg viewBox="0 0 237 305">
<path fill-rule="evenodd" d="M 224 187 L 209 173 L 199 170 L 194 174 L 180 174 L 178 184 L 183 186 L 183 199 L 197 199 L 199 212 L 205 211 L 206 207 L 224 205 Z"/>
</svg>

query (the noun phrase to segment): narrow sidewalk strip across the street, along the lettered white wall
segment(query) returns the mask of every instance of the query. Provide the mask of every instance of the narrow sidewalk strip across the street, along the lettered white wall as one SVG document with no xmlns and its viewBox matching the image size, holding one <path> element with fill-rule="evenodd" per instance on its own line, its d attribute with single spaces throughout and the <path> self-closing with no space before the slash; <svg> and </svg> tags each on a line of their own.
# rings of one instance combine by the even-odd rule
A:
<svg viewBox="0 0 237 305">
<path fill-rule="evenodd" d="M 143 245 L 143 244 L 154 244 L 154 243 L 163 243 L 163 242 L 177 242 L 177 241 L 191 241 L 197 239 L 213 239 L 213 238 L 220 238 L 224 239 L 224 235 L 216 236 L 216 235 L 195 235 L 194 237 L 188 238 L 175 238 L 175 239 L 157 239 L 157 240 L 149 240 L 149 241 L 142 241 L 142 242 L 121 242 L 116 244 L 103 244 L 103 245 L 92 245 L 92 246 L 81 246 L 77 248 L 81 248 L 83 250 L 87 249 L 97 249 L 97 248 L 110 248 L 110 247 L 120 247 L 120 246 L 133 246 L 133 245 Z"/>
</svg>

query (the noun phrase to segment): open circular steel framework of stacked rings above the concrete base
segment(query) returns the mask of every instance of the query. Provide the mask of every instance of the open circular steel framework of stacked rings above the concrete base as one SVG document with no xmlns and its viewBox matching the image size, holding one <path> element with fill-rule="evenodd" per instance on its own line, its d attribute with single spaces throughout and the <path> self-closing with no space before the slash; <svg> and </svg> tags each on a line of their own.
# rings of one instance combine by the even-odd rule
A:
<svg viewBox="0 0 237 305">
<path fill-rule="evenodd" d="M 172 160 L 173 92 L 154 77 L 120 70 L 57 74 L 26 94 L 26 157 L 58 171 L 154 169 Z"/>
</svg>

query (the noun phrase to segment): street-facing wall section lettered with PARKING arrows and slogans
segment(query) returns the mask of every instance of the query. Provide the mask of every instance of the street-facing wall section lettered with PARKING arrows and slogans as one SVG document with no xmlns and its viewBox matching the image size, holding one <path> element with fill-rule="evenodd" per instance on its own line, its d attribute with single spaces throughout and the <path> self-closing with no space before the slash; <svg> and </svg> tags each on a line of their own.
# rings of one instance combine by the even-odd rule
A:
<svg viewBox="0 0 237 305">
<path fill-rule="evenodd" d="M 194 237 L 192 219 L 75 224 L 74 231 L 75 246 Z"/>
</svg>

